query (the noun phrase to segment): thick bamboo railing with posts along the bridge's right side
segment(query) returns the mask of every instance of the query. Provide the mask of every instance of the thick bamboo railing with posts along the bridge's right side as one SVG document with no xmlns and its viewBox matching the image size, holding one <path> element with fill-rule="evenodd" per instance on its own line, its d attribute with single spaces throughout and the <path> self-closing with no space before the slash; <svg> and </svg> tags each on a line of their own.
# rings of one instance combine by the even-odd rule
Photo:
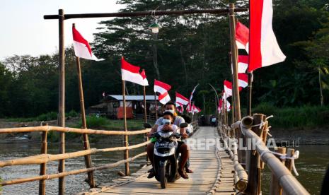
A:
<svg viewBox="0 0 329 195">
<path fill-rule="evenodd" d="M 235 130 L 242 133 L 236 137 Z M 294 149 L 279 148 L 271 151 L 266 146 L 268 122 L 264 114 L 253 114 L 253 117 L 244 117 L 241 121 L 226 126 L 224 121 L 219 126 L 219 133 L 224 140 L 224 147 L 234 162 L 235 186 L 238 194 L 261 194 L 261 170 L 266 164 L 272 172 L 270 194 L 309 194 L 291 173 L 293 160 L 282 160 L 282 155 L 292 157 Z M 237 158 L 236 139 L 253 139 L 250 141 L 252 148 L 246 150 L 246 162 Z M 231 141 L 232 148 L 226 141 Z M 239 146 L 242 146 L 239 143 Z M 255 150 L 253 150 L 255 148 Z M 247 174 L 248 172 L 248 174 Z"/>
</svg>

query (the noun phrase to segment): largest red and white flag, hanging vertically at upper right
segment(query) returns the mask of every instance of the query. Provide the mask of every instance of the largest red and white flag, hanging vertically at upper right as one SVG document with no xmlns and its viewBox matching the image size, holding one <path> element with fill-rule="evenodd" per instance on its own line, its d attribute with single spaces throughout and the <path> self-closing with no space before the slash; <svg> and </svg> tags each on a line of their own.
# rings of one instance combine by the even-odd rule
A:
<svg viewBox="0 0 329 195">
<path fill-rule="evenodd" d="M 272 29 L 272 0 L 250 0 L 250 40 L 248 71 L 284 61 Z"/>
</svg>

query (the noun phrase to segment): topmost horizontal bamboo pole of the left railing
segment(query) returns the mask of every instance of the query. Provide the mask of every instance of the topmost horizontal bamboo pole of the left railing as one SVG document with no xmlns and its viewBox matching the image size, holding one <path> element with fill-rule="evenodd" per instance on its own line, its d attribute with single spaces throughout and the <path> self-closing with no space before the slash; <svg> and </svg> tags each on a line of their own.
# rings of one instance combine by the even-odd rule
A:
<svg viewBox="0 0 329 195">
<path fill-rule="evenodd" d="M 139 131 L 107 131 L 107 130 L 94 130 L 94 129 L 78 129 L 61 126 L 28 126 L 28 127 L 16 127 L 16 128 L 5 128 L 0 129 L 0 134 L 13 134 L 23 132 L 35 132 L 35 131 L 58 131 L 63 133 L 76 133 L 76 134 L 97 134 L 97 135 L 138 135 L 145 134 L 151 131 L 151 129 L 144 129 Z"/>
</svg>

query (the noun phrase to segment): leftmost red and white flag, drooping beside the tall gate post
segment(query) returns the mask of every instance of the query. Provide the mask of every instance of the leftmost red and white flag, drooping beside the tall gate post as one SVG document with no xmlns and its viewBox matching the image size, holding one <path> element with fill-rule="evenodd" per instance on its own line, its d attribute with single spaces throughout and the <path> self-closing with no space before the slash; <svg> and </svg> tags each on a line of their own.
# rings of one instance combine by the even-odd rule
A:
<svg viewBox="0 0 329 195">
<path fill-rule="evenodd" d="M 73 48 L 74 54 L 76 57 L 80 57 L 83 59 L 92 59 L 96 61 L 104 60 L 98 59 L 93 52 L 91 52 L 91 46 L 88 41 L 85 40 L 80 32 L 76 30 L 75 25 L 72 25 L 72 33 L 73 33 Z"/>
</svg>

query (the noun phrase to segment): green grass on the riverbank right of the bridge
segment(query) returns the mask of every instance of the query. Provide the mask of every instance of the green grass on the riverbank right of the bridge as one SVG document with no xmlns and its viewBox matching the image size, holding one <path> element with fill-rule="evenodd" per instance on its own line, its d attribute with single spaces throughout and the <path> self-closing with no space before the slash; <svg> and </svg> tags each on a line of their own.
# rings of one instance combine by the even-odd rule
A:
<svg viewBox="0 0 329 195">
<path fill-rule="evenodd" d="M 253 109 L 253 113 L 262 113 L 269 119 L 270 125 L 279 128 L 316 128 L 329 125 L 329 106 L 275 107 L 262 103 Z"/>
</svg>

